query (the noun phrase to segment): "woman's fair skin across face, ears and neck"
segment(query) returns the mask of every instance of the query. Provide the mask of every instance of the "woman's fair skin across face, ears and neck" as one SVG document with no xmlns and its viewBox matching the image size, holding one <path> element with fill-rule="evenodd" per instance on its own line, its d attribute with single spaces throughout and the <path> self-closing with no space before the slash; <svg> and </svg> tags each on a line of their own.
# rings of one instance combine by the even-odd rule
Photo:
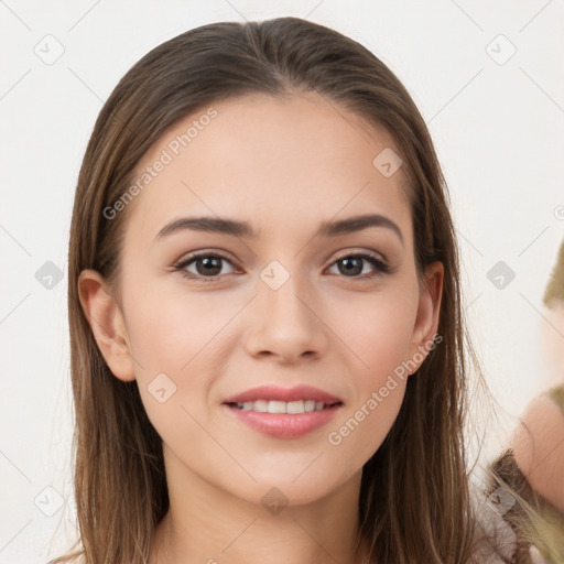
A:
<svg viewBox="0 0 564 564">
<path fill-rule="evenodd" d="M 393 424 L 409 377 L 340 444 L 327 436 L 429 346 L 442 264 L 419 284 L 402 171 L 384 177 L 372 165 L 384 148 L 399 153 L 386 130 L 369 130 L 313 94 L 212 106 L 218 117 L 129 204 L 121 303 L 97 272 L 79 279 L 108 366 L 116 378 L 137 380 L 163 440 L 171 508 L 149 562 L 365 564 L 367 546 L 354 551 L 362 465 Z M 195 118 L 166 132 L 138 171 Z M 386 216 L 401 238 L 383 225 L 314 237 L 322 221 L 365 214 Z M 259 235 L 184 229 L 155 239 L 172 219 L 204 215 L 248 221 Z M 207 275 L 216 280 L 204 280 L 203 258 L 184 267 L 199 280 L 174 271 L 193 251 L 228 257 Z M 378 267 L 366 259 L 352 273 L 339 268 L 362 251 L 392 272 L 369 280 Z M 273 260 L 289 274 L 276 290 L 260 278 Z M 161 372 L 176 386 L 164 403 L 148 390 Z M 302 383 L 343 406 L 299 438 L 259 433 L 221 405 L 260 384 Z M 261 501 L 271 488 L 288 500 L 279 512 Z"/>
</svg>

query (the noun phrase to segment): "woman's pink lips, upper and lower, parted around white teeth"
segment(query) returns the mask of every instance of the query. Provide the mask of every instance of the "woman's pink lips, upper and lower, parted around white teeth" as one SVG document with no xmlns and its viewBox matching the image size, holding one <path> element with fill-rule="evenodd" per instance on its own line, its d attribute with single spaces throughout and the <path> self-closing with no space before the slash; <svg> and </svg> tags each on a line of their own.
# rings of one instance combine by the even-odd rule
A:
<svg viewBox="0 0 564 564">
<path fill-rule="evenodd" d="M 235 405 L 257 400 L 285 402 L 315 400 L 326 405 L 323 410 L 304 413 L 263 413 L 252 410 L 243 411 Z M 295 388 L 261 386 L 228 398 L 224 405 L 232 416 L 259 433 L 276 438 L 297 438 L 327 424 L 340 410 L 343 402 L 336 395 L 311 386 Z"/>
</svg>

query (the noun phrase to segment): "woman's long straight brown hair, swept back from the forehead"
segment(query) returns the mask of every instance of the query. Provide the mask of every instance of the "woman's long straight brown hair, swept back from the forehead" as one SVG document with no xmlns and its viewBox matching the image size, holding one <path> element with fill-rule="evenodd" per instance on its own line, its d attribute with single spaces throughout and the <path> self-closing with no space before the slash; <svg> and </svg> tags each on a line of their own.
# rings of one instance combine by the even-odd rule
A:
<svg viewBox="0 0 564 564">
<path fill-rule="evenodd" d="M 153 48 L 111 93 L 86 149 L 68 252 L 82 541 L 74 555 L 86 564 L 147 562 L 169 508 L 161 438 L 137 382 L 110 372 L 78 297 L 84 269 L 97 270 L 118 289 L 128 210 L 111 220 L 104 210 L 126 193 L 148 149 L 182 118 L 235 96 L 292 91 L 318 93 L 389 131 L 406 175 L 420 281 L 429 263 L 444 265 L 443 341 L 409 378 L 393 426 L 362 469 L 359 534 L 379 564 L 470 562 L 475 518 L 464 429 L 468 359 L 476 358 L 464 328 L 446 183 L 430 133 L 406 89 L 370 51 L 328 28 L 279 18 L 213 23 Z"/>
</svg>

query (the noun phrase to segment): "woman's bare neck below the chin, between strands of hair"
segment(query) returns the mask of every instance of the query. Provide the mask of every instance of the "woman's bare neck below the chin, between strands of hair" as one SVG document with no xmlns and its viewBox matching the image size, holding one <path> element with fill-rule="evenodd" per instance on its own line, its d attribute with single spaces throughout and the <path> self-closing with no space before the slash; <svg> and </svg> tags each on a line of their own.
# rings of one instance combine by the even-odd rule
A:
<svg viewBox="0 0 564 564">
<path fill-rule="evenodd" d="M 170 508 L 149 564 L 368 563 L 358 536 L 361 473 L 314 502 L 292 505 L 272 490 L 268 499 L 280 503 L 261 495 L 257 503 L 206 481 L 170 452 L 165 458 Z"/>
</svg>

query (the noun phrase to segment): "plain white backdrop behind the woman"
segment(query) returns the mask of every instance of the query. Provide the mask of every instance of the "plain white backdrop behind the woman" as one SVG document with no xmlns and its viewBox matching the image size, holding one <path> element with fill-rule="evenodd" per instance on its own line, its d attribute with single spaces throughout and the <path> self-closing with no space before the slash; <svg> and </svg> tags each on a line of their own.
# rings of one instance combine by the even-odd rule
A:
<svg viewBox="0 0 564 564">
<path fill-rule="evenodd" d="M 482 462 L 549 386 L 542 339 L 556 329 L 542 295 L 564 237 L 562 2 L 1 1 L 0 563 L 45 563 L 73 535 L 68 228 L 104 101 L 141 56 L 186 30 L 282 15 L 362 43 L 429 123 L 471 337 L 501 409 Z M 45 285 L 45 269 L 61 280 Z"/>
</svg>

